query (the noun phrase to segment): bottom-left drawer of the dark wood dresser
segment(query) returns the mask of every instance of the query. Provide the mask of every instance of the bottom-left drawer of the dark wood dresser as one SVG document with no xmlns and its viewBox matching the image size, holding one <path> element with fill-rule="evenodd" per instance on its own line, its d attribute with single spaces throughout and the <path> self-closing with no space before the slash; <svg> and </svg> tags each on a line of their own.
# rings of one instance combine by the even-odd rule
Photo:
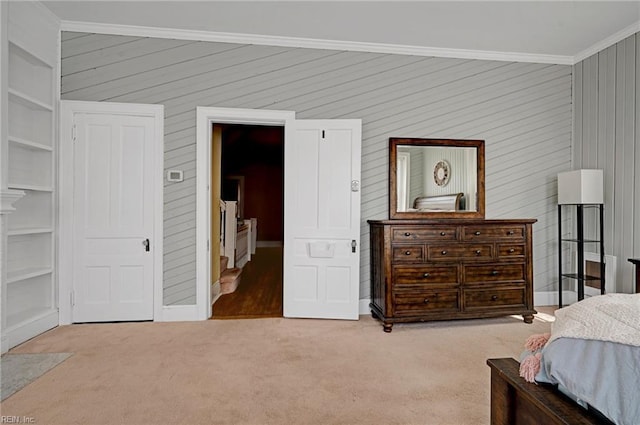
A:
<svg viewBox="0 0 640 425">
<path fill-rule="evenodd" d="M 421 291 L 394 295 L 394 312 L 398 316 L 415 316 L 432 311 L 458 311 L 458 291 Z"/>
</svg>

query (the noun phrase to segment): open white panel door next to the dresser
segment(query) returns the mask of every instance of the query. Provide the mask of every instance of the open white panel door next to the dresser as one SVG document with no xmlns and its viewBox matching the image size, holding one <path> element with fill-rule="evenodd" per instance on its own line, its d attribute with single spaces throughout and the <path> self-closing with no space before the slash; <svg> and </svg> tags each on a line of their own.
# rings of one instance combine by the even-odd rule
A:
<svg viewBox="0 0 640 425">
<path fill-rule="evenodd" d="M 285 126 L 285 317 L 358 319 L 360 120 Z"/>
</svg>

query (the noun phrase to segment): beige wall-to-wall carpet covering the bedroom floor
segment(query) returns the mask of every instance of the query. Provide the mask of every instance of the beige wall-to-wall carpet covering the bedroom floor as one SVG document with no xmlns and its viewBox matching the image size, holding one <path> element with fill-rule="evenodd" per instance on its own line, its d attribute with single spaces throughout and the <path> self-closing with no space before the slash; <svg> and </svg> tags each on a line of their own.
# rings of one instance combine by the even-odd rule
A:
<svg viewBox="0 0 640 425">
<path fill-rule="evenodd" d="M 547 310 L 552 312 L 552 310 Z M 12 353 L 73 353 L 2 402 L 37 424 L 487 424 L 491 357 L 548 332 L 505 317 L 394 326 L 252 319 L 72 325 Z"/>
</svg>

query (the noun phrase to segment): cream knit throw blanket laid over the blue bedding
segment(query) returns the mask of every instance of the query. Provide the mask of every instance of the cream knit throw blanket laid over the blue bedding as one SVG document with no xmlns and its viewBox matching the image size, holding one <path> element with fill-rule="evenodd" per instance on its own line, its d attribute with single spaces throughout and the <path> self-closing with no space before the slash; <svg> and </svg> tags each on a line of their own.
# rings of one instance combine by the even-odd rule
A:
<svg viewBox="0 0 640 425">
<path fill-rule="evenodd" d="M 549 343 L 582 338 L 640 346 L 640 294 L 587 298 L 555 312 Z"/>
</svg>

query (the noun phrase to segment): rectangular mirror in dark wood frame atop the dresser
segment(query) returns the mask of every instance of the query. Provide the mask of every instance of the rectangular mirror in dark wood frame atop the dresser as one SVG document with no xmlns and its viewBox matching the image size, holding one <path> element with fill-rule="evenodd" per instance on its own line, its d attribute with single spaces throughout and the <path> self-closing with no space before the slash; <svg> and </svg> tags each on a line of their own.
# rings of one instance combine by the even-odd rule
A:
<svg viewBox="0 0 640 425">
<path fill-rule="evenodd" d="M 392 219 L 484 218 L 484 141 L 389 139 Z"/>
</svg>

